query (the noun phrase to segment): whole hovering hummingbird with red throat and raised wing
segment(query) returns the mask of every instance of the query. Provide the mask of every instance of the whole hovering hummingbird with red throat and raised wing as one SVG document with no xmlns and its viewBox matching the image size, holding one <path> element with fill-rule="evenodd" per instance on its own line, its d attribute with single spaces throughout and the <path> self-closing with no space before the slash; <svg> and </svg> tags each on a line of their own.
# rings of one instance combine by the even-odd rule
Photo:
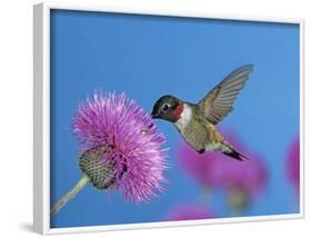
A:
<svg viewBox="0 0 312 238">
<path fill-rule="evenodd" d="M 220 151 L 233 159 L 248 159 L 238 152 L 215 126 L 233 110 L 253 65 L 238 68 L 207 93 L 198 103 L 167 95 L 154 103 L 151 117 L 172 122 L 183 139 L 198 152 Z"/>
</svg>

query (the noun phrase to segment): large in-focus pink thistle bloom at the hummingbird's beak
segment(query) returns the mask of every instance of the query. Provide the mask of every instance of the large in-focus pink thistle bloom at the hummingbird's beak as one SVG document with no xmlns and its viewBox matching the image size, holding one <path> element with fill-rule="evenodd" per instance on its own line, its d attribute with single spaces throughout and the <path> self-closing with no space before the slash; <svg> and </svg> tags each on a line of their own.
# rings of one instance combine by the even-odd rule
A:
<svg viewBox="0 0 312 238">
<path fill-rule="evenodd" d="M 120 189 L 132 202 L 142 202 L 162 190 L 165 163 L 164 137 L 157 130 L 149 113 L 124 93 L 94 92 L 93 99 L 79 105 L 72 130 L 81 142 L 83 172 L 101 189 Z M 95 168 L 89 168 L 95 156 Z M 92 160 L 93 161 L 93 160 Z M 93 165 L 93 163 L 92 163 Z M 89 166 L 89 167 L 88 167 Z M 98 173 L 108 173 L 101 184 Z M 92 173 L 93 172 L 93 173 Z"/>
</svg>

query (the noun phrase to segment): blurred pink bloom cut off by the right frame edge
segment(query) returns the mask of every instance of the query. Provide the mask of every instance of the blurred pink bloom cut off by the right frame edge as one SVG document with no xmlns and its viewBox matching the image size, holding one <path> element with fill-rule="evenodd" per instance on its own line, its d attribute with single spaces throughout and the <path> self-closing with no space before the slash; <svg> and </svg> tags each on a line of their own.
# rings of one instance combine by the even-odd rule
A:
<svg viewBox="0 0 312 238">
<path fill-rule="evenodd" d="M 299 194 L 300 184 L 300 141 L 299 137 L 294 138 L 286 151 L 286 175 L 291 184 Z"/>
</svg>

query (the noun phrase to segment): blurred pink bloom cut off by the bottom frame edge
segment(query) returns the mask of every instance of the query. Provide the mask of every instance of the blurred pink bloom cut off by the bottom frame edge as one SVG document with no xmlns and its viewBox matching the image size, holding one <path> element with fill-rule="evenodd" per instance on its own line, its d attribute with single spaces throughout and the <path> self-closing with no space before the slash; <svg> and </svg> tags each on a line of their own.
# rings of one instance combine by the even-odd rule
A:
<svg viewBox="0 0 312 238">
<path fill-rule="evenodd" d="M 174 207 L 165 220 L 195 220 L 215 218 L 212 210 L 203 205 L 182 204 Z"/>
</svg>

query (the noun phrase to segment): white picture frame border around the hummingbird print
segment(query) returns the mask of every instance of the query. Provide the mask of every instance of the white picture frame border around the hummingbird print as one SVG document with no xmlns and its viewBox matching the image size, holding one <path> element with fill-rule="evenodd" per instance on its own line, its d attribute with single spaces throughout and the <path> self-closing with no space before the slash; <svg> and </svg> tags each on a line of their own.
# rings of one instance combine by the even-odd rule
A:
<svg viewBox="0 0 312 238">
<path fill-rule="evenodd" d="M 239 217 L 239 218 L 215 218 L 209 220 L 191 220 L 191 221 L 170 221 L 170 222 L 152 222 L 152 224 L 131 224 L 131 225 L 109 225 L 109 226 L 90 226 L 74 228 L 50 228 L 50 10 L 83 10 L 98 12 L 120 12 L 120 13 L 138 13 L 138 14 L 155 14 L 155 16 L 174 16 L 174 17 L 192 17 L 209 18 L 224 20 L 242 20 L 242 21 L 262 21 L 262 22 L 282 22 L 298 23 L 300 26 L 300 212 L 295 215 L 272 215 L 261 217 Z M 43 235 L 64 234 L 64 232 L 84 232 L 84 231 L 103 231 L 120 229 L 138 229 L 138 228 L 155 228 L 155 227 L 175 227 L 192 226 L 208 224 L 225 224 L 225 222 L 244 222 L 261 221 L 275 219 L 294 219 L 304 217 L 304 20 L 303 19 L 281 19 L 281 18 L 258 18 L 244 16 L 214 14 L 212 12 L 182 11 L 175 9 L 149 9 L 133 4 L 129 7 L 120 7 L 113 4 L 90 6 L 88 3 L 53 3 L 44 2 L 36 4 L 33 8 L 33 77 L 34 77 L 34 158 L 33 158 L 33 225 L 34 231 Z"/>
</svg>

